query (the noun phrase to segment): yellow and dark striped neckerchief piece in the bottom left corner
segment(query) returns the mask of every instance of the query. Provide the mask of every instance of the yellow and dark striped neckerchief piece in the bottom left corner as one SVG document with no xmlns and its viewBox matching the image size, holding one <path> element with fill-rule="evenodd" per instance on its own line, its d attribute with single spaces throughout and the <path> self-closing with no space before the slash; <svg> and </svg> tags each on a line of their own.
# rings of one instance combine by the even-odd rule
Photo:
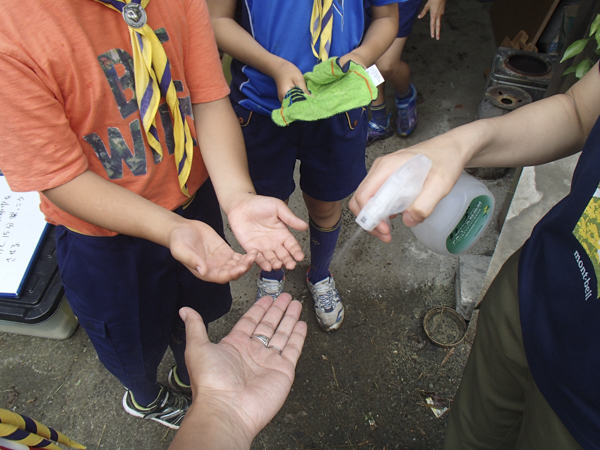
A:
<svg viewBox="0 0 600 450">
<path fill-rule="evenodd" d="M 27 416 L 2 408 L 0 408 L 0 438 L 46 450 L 61 450 L 52 441 L 71 448 L 85 448 L 53 428 L 49 428 Z"/>
</svg>

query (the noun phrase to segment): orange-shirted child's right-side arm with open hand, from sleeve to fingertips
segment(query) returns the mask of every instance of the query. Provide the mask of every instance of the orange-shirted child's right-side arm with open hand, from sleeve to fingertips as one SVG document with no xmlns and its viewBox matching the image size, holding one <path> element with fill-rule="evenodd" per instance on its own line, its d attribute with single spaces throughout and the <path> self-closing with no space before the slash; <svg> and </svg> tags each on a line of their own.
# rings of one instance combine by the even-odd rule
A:
<svg viewBox="0 0 600 450">
<path fill-rule="evenodd" d="M 263 270 L 293 269 L 304 253 L 287 226 L 306 230 L 308 225 L 281 200 L 256 195 L 229 99 L 192 107 L 202 158 L 235 238 L 247 252 L 259 252 L 256 262 Z"/>
</svg>

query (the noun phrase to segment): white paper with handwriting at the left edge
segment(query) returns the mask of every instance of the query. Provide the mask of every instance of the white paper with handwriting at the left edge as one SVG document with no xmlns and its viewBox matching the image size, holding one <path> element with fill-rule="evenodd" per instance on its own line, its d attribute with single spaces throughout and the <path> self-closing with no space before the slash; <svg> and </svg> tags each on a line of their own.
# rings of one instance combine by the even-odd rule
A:
<svg viewBox="0 0 600 450">
<path fill-rule="evenodd" d="M 37 192 L 13 192 L 0 175 L 0 297 L 18 297 L 48 224 Z"/>
</svg>

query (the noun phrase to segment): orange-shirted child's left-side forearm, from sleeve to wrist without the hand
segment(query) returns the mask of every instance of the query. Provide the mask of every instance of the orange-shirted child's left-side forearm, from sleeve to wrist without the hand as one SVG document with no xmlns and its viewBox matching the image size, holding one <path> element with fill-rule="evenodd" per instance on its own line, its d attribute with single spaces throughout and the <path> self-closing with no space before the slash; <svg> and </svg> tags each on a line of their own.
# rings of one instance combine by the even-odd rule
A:
<svg viewBox="0 0 600 450">
<path fill-rule="evenodd" d="M 184 220 L 89 170 L 43 194 L 63 211 L 86 222 L 166 247 L 171 231 Z"/>
</svg>

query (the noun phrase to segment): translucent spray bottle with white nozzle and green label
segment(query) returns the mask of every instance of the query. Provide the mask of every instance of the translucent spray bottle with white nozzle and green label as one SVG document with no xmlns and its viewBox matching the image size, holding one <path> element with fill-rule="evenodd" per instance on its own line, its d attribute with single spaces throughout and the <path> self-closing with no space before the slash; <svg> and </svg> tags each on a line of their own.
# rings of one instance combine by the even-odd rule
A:
<svg viewBox="0 0 600 450">
<path fill-rule="evenodd" d="M 431 165 L 431 160 L 423 155 L 409 159 L 369 199 L 356 222 L 367 231 L 372 231 L 382 220 L 389 225 L 390 216 L 404 212 L 415 201 Z M 494 196 L 485 184 L 463 173 L 431 215 L 411 229 L 428 249 L 457 256 L 482 236 L 492 218 L 494 204 Z"/>
</svg>

